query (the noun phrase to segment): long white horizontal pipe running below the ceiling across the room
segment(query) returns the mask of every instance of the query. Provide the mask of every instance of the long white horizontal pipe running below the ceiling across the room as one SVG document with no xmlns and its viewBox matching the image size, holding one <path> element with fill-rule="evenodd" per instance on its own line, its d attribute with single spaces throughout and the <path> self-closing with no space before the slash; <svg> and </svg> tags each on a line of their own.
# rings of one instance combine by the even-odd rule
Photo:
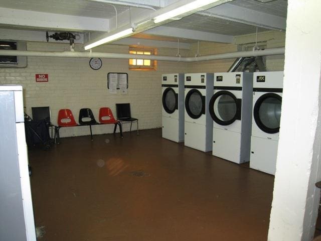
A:
<svg viewBox="0 0 321 241">
<path fill-rule="evenodd" d="M 271 48 L 264 50 L 251 50 L 232 52 L 224 54 L 213 54 L 195 57 L 177 57 L 162 55 L 141 55 L 141 54 L 119 54 L 104 52 L 45 52 L 45 51 L 27 51 L 27 50 L 0 50 L 0 55 L 4 56 L 30 56 L 30 57 L 67 57 L 67 58 L 107 58 L 107 59 L 150 59 L 162 61 L 180 61 L 180 62 L 198 62 L 217 59 L 232 59 L 238 57 L 256 57 L 267 55 L 284 54 L 284 48 Z"/>
</svg>

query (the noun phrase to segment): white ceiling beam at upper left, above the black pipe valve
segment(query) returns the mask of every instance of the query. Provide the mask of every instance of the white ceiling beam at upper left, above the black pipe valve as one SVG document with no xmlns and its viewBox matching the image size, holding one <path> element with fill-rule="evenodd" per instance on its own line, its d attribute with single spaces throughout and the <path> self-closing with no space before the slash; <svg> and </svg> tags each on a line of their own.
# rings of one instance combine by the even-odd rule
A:
<svg viewBox="0 0 321 241">
<path fill-rule="evenodd" d="M 109 31 L 109 20 L 0 8 L 0 23 L 8 26 L 63 31 Z"/>
</svg>

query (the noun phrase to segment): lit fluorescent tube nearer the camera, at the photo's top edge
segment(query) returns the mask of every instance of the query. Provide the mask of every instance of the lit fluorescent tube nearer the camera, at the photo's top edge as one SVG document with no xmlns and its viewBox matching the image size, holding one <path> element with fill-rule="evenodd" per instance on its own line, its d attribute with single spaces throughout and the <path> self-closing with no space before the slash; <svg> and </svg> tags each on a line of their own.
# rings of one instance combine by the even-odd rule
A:
<svg viewBox="0 0 321 241">
<path fill-rule="evenodd" d="M 196 0 L 189 4 L 183 5 L 177 9 L 173 9 L 165 14 L 158 15 L 154 18 L 154 23 L 161 23 L 165 20 L 172 19 L 176 16 L 179 16 L 181 14 L 185 14 L 187 12 L 190 12 L 195 9 L 202 8 L 206 5 L 213 4 L 215 2 L 218 2 L 219 0 Z"/>
</svg>

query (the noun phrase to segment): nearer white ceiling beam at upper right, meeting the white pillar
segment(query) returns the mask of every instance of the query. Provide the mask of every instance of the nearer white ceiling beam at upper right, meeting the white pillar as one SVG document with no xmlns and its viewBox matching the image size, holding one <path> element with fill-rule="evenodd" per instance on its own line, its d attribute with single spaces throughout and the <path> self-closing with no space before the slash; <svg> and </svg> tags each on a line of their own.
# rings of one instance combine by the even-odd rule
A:
<svg viewBox="0 0 321 241">
<path fill-rule="evenodd" d="M 198 14 L 272 30 L 285 31 L 286 27 L 286 18 L 242 8 L 228 3 Z"/>
</svg>

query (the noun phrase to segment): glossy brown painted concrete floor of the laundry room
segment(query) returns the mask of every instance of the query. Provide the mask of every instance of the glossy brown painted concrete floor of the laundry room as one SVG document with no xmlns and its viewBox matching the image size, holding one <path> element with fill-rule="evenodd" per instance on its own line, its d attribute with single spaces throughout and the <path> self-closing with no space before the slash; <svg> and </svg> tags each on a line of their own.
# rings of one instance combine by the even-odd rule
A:
<svg viewBox="0 0 321 241">
<path fill-rule="evenodd" d="M 273 176 L 139 134 L 29 150 L 39 240 L 267 239 Z"/>
</svg>

